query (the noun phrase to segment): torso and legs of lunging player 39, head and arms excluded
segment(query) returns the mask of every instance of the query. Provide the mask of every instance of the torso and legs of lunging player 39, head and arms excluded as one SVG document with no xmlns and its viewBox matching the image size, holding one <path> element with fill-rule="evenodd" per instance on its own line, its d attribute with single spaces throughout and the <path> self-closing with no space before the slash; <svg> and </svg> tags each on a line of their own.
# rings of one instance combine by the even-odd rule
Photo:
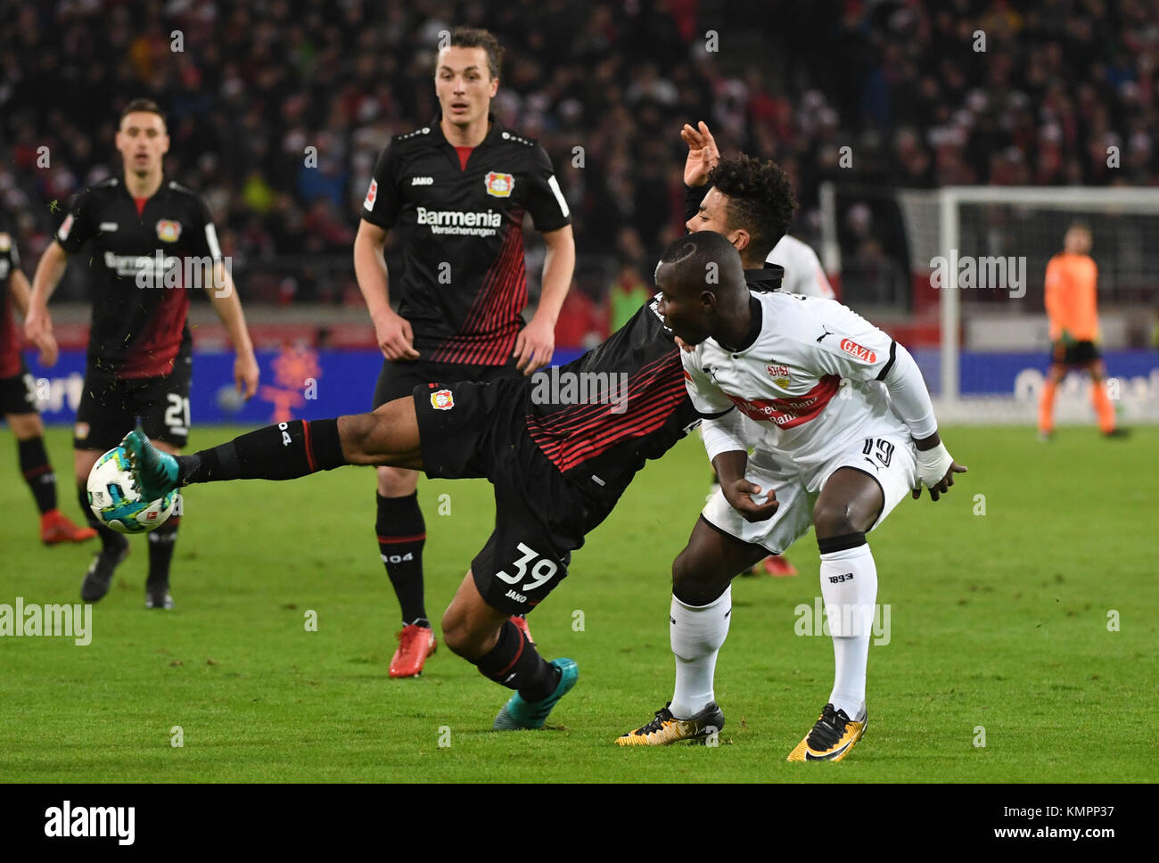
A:
<svg viewBox="0 0 1159 863">
<path fill-rule="evenodd" d="M 177 459 L 153 451 L 138 432 L 124 446 L 147 497 L 195 482 L 290 480 L 342 465 L 487 477 L 495 531 L 443 615 L 443 637 L 483 675 L 516 690 L 496 729 L 541 727 L 578 671 L 570 659 L 540 657 L 510 615 L 544 600 L 644 462 L 700 422 L 656 300 L 562 366 L 559 380 L 617 381 L 617 393 L 608 398 L 610 387 L 592 394 L 589 386 L 577 402 L 563 386 L 541 397 L 544 388 L 520 378 L 427 383 L 372 414 L 271 425 Z"/>
</svg>

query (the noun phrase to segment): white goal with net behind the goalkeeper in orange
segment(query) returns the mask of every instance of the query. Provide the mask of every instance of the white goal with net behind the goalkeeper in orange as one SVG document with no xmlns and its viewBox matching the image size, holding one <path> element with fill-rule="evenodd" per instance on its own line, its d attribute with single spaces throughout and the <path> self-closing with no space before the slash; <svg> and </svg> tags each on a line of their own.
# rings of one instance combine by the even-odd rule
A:
<svg viewBox="0 0 1159 863">
<path fill-rule="evenodd" d="M 819 203 L 826 271 L 854 310 L 901 334 L 947 422 L 1035 422 L 1047 263 L 1086 224 L 1108 390 L 1127 422 L 1159 422 L 1159 189 L 826 182 Z M 1059 422 L 1092 422 L 1088 396 L 1069 376 Z"/>
</svg>

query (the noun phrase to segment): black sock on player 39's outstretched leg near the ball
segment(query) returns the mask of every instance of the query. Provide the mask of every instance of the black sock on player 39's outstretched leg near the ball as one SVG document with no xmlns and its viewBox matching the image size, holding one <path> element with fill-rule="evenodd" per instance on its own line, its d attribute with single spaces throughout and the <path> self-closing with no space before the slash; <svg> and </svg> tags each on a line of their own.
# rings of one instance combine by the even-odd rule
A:
<svg viewBox="0 0 1159 863">
<path fill-rule="evenodd" d="M 177 484 L 221 480 L 296 480 L 347 463 L 337 419 L 294 419 L 178 455 Z"/>
</svg>

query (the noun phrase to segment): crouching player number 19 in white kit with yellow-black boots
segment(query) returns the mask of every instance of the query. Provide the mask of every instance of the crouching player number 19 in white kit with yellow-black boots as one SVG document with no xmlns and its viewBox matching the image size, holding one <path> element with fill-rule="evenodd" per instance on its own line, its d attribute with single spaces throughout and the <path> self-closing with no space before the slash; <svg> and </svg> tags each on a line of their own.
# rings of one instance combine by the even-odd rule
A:
<svg viewBox="0 0 1159 863">
<path fill-rule="evenodd" d="M 704 739 L 724 724 L 713 674 L 728 634 L 730 579 L 817 533 L 836 675 L 789 761 L 840 761 L 865 733 L 877 571 L 866 534 L 921 484 L 954 484 L 930 394 L 904 346 L 836 300 L 755 293 L 714 232 L 672 243 L 656 268 L 659 312 L 683 352 L 721 480 L 672 564 L 672 701 L 621 745 Z M 745 423 L 743 418 L 756 420 Z M 749 456 L 749 448 L 753 454 Z"/>
</svg>

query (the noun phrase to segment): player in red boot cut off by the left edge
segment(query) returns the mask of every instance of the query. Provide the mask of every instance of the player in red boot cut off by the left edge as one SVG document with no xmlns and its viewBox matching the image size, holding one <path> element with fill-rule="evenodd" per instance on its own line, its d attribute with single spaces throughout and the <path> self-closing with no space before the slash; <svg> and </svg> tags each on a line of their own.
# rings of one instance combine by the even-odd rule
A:
<svg viewBox="0 0 1159 863">
<path fill-rule="evenodd" d="M 20 269 L 15 234 L 0 215 L 0 416 L 16 438 L 20 473 L 41 511 L 41 541 L 45 546 L 83 542 L 96 536 L 96 531 L 78 527 L 57 509 L 57 477 L 44 448 L 36 389 L 20 356 L 22 334 L 16 329 L 12 309 L 15 305 L 27 315 L 29 293 L 28 278 Z M 56 361 L 56 342 L 46 341 L 41 361 Z"/>
</svg>

